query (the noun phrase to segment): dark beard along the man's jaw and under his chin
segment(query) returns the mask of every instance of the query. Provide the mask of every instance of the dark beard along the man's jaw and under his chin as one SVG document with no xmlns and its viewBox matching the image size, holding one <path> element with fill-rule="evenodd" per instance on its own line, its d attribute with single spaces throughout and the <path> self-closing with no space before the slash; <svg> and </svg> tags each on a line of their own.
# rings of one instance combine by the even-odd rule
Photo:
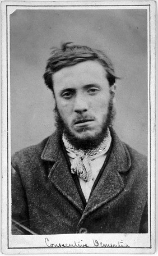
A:
<svg viewBox="0 0 158 256">
<path fill-rule="evenodd" d="M 76 138 L 76 136 L 72 134 L 72 132 L 69 130 L 67 125 L 62 120 L 57 104 L 55 105 L 54 113 L 55 126 L 57 127 L 59 133 L 62 135 L 64 132 L 64 135 L 66 135 L 66 138 L 68 139 L 69 143 L 71 143 L 76 149 L 87 150 L 96 148 L 104 140 L 107 134 L 108 127 L 111 127 L 113 125 L 113 120 L 115 117 L 115 108 L 113 106 L 113 98 L 111 97 L 109 101 L 108 115 L 106 117 L 106 120 L 104 120 L 101 132 L 97 134 L 95 137 L 86 139 Z"/>
</svg>

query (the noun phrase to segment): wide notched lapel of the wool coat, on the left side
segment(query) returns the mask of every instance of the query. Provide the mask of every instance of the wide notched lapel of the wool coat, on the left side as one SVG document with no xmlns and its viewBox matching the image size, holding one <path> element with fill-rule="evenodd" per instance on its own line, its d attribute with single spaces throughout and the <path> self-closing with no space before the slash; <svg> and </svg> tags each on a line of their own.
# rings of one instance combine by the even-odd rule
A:
<svg viewBox="0 0 158 256">
<path fill-rule="evenodd" d="M 61 139 L 57 131 L 50 136 L 41 154 L 41 159 L 52 162 L 53 167 L 50 167 L 48 177 L 55 188 L 71 201 L 80 212 L 83 212 L 82 200 L 69 171 L 68 163 L 62 150 Z"/>
</svg>

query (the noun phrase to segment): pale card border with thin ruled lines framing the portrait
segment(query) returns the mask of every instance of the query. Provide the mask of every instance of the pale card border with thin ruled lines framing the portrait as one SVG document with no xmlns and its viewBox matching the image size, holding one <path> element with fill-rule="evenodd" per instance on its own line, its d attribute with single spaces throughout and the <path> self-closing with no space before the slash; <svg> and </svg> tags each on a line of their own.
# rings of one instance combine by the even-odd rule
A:
<svg viewBox="0 0 158 256">
<path fill-rule="evenodd" d="M 132 2 L 131 4 L 129 4 L 130 2 Z M 134 3 L 138 3 L 140 2 L 140 4 L 134 4 Z M 18 3 L 18 4 L 17 4 Z M 2 2 L 2 38 L 4 38 L 4 36 L 6 35 L 6 40 L 4 40 L 4 42 L 2 42 L 2 65 L 4 64 L 4 62 L 6 62 L 4 64 L 4 66 L 2 66 L 2 166 L 3 166 L 3 170 L 2 170 L 2 189 L 3 191 L 6 190 L 5 185 L 6 185 L 6 180 L 7 180 L 7 248 L 6 248 L 6 239 L 4 238 L 4 233 L 6 234 L 6 231 L 4 231 L 4 223 L 6 223 L 6 217 L 4 212 L 6 209 L 4 209 L 4 197 L 6 198 L 6 195 L 4 196 L 4 192 L 2 193 L 2 248 L 3 248 L 3 252 L 7 252 L 7 253 L 13 253 L 13 252 L 9 252 L 8 249 L 55 249 L 55 251 L 57 251 L 58 249 L 74 249 L 74 247 L 72 248 L 48 248 L 47 246 L 45 247 L 10 247 L 10 234 L 9 234 L 9 225 L 10 225 L 10 220 L 9 220 L 9 215 L 10 215 L 10 211 L 9 211 L 9 205 L 10 205 L 10 199 L 9 199 L 9 193 L 10 193 L 10 186 L 11 186 L 11 180 L 10 180 L 10 159 L 11 159 L 11 152 L 10 152 L 10 92 L 9 92 L 9 83 L 10 83 L 10 60 L 9 60 L 9 50 L 8 48 L 10 47 L 10 41 L 8 39 L 8 33 L 9 33 L 9 26 L 8 26 L 8 21 L 9 21 L 9 16 L 10 13 L 8 11 L 8 8 L 10 7 L 22 7 L 22 8 L 26 8 L 26 7 L 139 7 L 139 6 L 146 6 L 149 8 L 149 24 L 148 24 L 148 33 L 149 33 L 149 45 L 148 45 L 148 67 L 149 67 L 149 71 L 148 71 L 148 164 L 149 164 L 149 175 L 148 175 L 148 179 L 150 179 L 149 185 L 149 194 L 148 194 L 148 198 L 150 198 L 150 203 L 148 204 L 148 208 L 150 209 L 150 211 L 148 213 L 150 213 L 150 218 L 148 220 L 150 220 L 150 246 L 149 247 L 130 247 L 130 248 L 119 248 L 121 250 L 121 252 L 118 253 L 126 253 L 125 250 L 129 250 L 129 249 L 150 249 L 148 250 L 150 253 L 154 252 L 155 250 L 155 227 L 152 223 L 154 223 L 155 221 L 155 130 L 154 130 L 154 124 L 155 124 L 155 99 L 154 99 L 154 93 L 155 93 L 155 59 L 154 59 L 154 54 L 155 54 L 155 38 L 154 38 L 154 34 L 155 34 L 155 28 L 152 26 L 151 28 L 151 23 L 152 25 L 155 23 L 155 1 L 129 1 L 128 4 L 120 4 L 123 3 L 123 1 L 117 1 L 117 4 L 115 4 L 115 2 L 111 2 L 111 4 L 108 4 L 108 1 L 103 1 L 101 3 L 103 4 L 98 4 L 100 2 L 97 1 L 92 1 L 91 4 L 90 2 L 85 2 L 85 4 L 82 4 L 83 2 L 51 2 L 51 4 L 48 4 L 49 2 L 42 2 L 43 4 L 40 5 L 41 2 L 31 2 L 31 4 L 25 4 L 25 3 L 29 3 L 29 2 Z M 46 4 L 47 3 L 47 4 Z M 59 3 L 59 4 L 58 4 Z M 73 4 L 69 4 L 69 3 L 73 3 Z M 81 3 L 81 4 L 79 4 Z M 87 3 L 87 4 L 86 4 Z M 92 4 L 93 3 L 93 4 Z M 127 3 L 127 1 L 126 1 Z M 6 10 L 4 10 L 4 8 L 6 8 Z M 6 21 L 4 21 L 4 17 L 6 17 Z M 6 26 L 5 26 L 6 25 Z M 5 31 L 6 29 L 6 31 Z M 151 38 L 151 36 L 153 36 Z M 6 47 L 6 49 L 4 50 L 4 47 Z M 4 57 L 6 56 L 6 58 Z M 152 77 L 152 75 L 154 74 L 154 76 Z M 151 78 L 152 77 L 152 78 Z M 5 88 L 5 81 L 6 81 L 6 85 L 7 87 Z M 152 88 L 151 88 L 152 86 Z M 151 103 L 151 98 L 152 98 L 152 103 Z M 154 112 L 153 112 L 154 111 Z M 7 116 L 6 116 L 7 113 Z M 7 130 L 6 130 L 7 127 Z M 151 134 L 152 133 L 152 134 Z M 154 135 L 154 138 L 153 138 Z M 6 144 L 7 142 L 7 144 Z M 7 145 L 7 147 L 6 147 Z M 151 157 L 151 152 L 152 152 L 152 157 Z M 7 154 L 6 154 L 7 153 Z M 153 155 L 154 154 L 154 155 Z M 6 158 L 7 156 L 7 158 Z M 6 162 L 7 159 L 7 162 Z M 5 169 L 7 167 L 7 177 L 6 177 L 6 173 L 5 173 Z M 151 189 L 151 184 L 152 189 Z M 3 243 L 4 242 L 4 243 Z M 85 253 L 86 250 L 88 249 L 102 249 L 104 250 L 103 253 L 105 252 L 105 249 L 110 249 L 111 252 L 113 249 L 116 248 L 102 248 L 102 247 L 87 247 L 87 248 L 76 248 L 77 250 L 82 250 Z M 57 249 L 57 250 L 56 250 Z M 118 248 L 117 248 L 118 249 Z M 50 251 L 52 251 L 50 250 Z M 60 251 L 59 250 L 59 251 Z M 123 251 L 122 251 L 123 250 Z M 30 250 L 31 253 L 32 250 Z M 136 252 L 136 251 L 135 251 Z M 50 252 L 52 253 L 52 252 Z M 58 252 L 61 253 L 61 252 Z M 66 252 L 69 253 L 69 252 Z"/>
</svg>

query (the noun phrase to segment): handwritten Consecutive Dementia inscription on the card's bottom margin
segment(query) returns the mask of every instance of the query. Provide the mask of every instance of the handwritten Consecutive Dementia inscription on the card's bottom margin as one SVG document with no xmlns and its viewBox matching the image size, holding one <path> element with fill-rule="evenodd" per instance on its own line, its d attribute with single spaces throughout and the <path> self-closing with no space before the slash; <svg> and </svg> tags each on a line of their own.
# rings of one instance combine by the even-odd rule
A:
<svg viewBox="0 0 158 256">
<path fill-rule="evenodd" d="M 49 241 L 48 237 L 45 238 L 45 244 L 49 248 L 88 248 L 88 247 L 96 247 L 96 248 L 129 248 L 130 246 L 128 244 L 124 244 L 123 241 L 118 241 L 118 243 L 103 243 L 103 241 L 98 241 L 92 239 L 92 245 L 87 245 L 86 243 L 83 243 L 83 241 L 73 241 L 73 243 L 52 243 Z"/>
</svg>

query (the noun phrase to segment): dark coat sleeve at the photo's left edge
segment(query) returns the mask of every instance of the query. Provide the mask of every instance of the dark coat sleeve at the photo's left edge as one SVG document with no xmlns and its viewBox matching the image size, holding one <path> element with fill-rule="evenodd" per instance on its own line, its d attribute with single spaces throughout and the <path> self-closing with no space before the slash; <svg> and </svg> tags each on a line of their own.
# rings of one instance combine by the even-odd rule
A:
<svg viewBox="0 0 158 256">
<path fill-rule="evenodd" d="M 22 185 L 21 177 L 16 168 L 12 166 L 11 178 L 11 191 L 12 191 L 12 234 L 17 234 L 17 225 L 29 227 L 29 211 L 27 207 L 27 198 L 24 187 Z"/>
</svg>

